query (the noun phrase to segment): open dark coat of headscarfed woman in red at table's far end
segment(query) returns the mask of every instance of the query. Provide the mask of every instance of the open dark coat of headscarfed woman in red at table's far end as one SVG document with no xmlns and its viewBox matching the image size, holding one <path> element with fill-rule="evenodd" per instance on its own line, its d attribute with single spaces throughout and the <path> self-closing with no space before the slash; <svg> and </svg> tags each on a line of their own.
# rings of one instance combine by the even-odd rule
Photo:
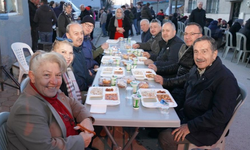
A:
<svg viewBox="0 0 250 150">
<path fill-rule="evenodd" d="M 113 16 L 110 19 L 109 26 L 108 26 L 108 31 L 109 33 L 109 38 L 114 39 L 115 38 L 115 32 L 116 32 L 116 27 L 115 27 L 115 16 Z M 125 16 L 123 21 L 122 21 L 122 27 L 124 28 L 125 32 L 123 32 L 124 38 L 128 38 L 128 31 L 131 27 L 129 19 Z"/>
</svg>

